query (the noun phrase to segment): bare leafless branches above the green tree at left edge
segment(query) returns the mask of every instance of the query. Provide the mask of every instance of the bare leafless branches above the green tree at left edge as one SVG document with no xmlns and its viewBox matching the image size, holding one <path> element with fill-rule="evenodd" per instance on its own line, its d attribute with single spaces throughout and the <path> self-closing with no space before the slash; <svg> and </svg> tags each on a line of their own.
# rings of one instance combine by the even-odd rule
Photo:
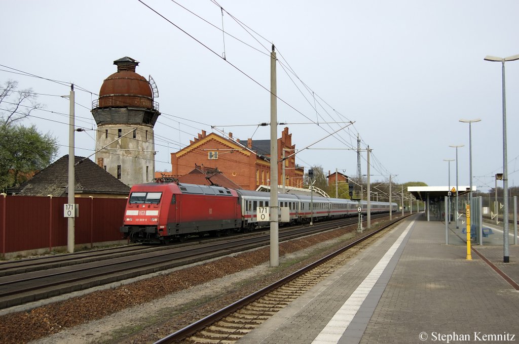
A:
<svg viewBox="0 0 519 344">
<path fill-rule="evenodd" d="M 33 110 L 43 109 L 44 105 L 36 102 L 37 95 L 29 88 L 18 91 L 18 81 L 7 80 L 0 89 L 0 117 L 3 125 L 28 117 Z"/>
</svg>

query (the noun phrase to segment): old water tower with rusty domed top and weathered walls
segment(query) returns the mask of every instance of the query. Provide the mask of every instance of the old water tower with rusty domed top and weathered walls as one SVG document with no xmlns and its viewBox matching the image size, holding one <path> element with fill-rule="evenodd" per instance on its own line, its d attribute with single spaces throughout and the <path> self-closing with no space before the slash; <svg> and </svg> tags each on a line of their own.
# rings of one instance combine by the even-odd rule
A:
<svg viewBox="0 0 519 344">
<path fill-rule="evenodd" d="M 160 115 L 157 87 L 135 73 L 138 61 L 128 56 L 114 61 L 117 72 L 101 85 L 92 104 L 98 125 L 95 161 L 127 185 L 152 181 L 155 175 L 153 127 Z"/>
</svg>

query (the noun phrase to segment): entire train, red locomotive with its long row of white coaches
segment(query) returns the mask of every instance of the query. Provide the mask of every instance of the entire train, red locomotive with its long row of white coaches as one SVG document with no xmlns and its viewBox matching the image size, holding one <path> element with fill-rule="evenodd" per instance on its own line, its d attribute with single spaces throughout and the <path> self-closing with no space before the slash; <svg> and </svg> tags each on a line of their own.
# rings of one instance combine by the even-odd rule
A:
<svg viewBox="0 0 519 344">
<path fill-rule="evenodd" d="M 220 236 L 268 226 L 258 221 L 257 208 L 268 207 L 270 193 L 214 185 L 159 180 L 135 184 L 130 190 L 120 232 L 130 242 L 170 243 L 189 236 Z M 365 214 L 367 202 L 322 196 L 278 194 L 283 222 L 310 221 Z M 360 207 L 360 209 L 359 209 Z M 397 211 L 396 203 L 371 202 L 371 213 Z M 278 211 L 281 220 L 281 212 Z"/>
</svg>

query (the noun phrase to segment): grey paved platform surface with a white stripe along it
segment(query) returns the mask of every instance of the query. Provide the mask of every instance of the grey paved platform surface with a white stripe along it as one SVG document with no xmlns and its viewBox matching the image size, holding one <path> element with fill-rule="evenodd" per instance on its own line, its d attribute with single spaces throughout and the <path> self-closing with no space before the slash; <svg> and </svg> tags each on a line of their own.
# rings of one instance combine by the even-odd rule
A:
<svg viewBox="0 0 519 344">
<path fill-rule="evenodd" d="M 519 343 L 519 291 L 416 214 L 238 343 Z M 519 247 L 477 247 L 519 282 Z M 500 262 L 501 261 L 501 262 Z"/>
</svg>

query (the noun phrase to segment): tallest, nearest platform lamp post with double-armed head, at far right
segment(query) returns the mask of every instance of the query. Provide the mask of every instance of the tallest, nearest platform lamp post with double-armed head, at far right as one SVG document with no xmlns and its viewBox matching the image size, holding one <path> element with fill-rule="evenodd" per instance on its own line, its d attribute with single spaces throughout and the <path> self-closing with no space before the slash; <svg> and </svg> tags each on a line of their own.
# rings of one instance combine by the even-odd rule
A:
<svg viewBox="0 0 519 344">
<path fill-rule="evenodd" d="M 496 58 L 486 56 L 485 61 L 501 62 L 502 94 L 503 94 L 503 263 L 510 262 L 508 253 L 508 157 L 507 157 L 507 101 L 504 92 L 504 62 L 519 60 L 519 55 L 508 56 L 508 58 Z"/>
</svg>

